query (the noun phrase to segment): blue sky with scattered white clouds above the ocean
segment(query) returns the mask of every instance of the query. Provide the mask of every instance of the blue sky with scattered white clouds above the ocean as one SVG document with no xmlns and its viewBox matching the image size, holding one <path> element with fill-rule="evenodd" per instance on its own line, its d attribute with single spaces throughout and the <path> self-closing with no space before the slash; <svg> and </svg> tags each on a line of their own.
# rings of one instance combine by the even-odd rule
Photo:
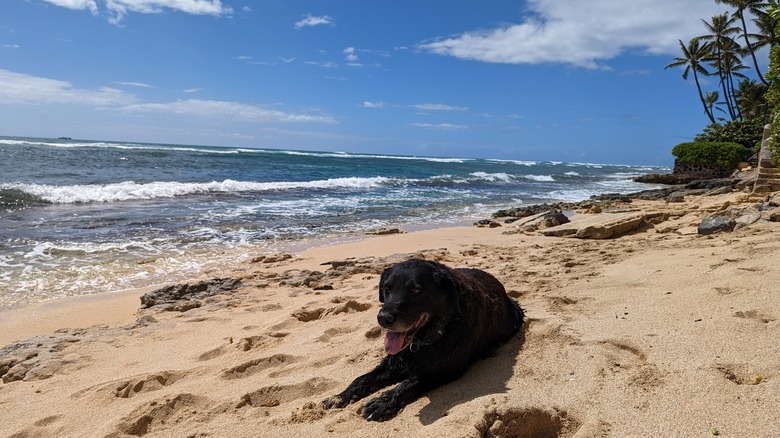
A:
<svg viewBox="0 0 780 438">
<path fill-rule="evenodd" d="M 0 135 L 670 165 L 707 118 L 664 67 L 727 10 L 3 0 Z"/>
</svg>

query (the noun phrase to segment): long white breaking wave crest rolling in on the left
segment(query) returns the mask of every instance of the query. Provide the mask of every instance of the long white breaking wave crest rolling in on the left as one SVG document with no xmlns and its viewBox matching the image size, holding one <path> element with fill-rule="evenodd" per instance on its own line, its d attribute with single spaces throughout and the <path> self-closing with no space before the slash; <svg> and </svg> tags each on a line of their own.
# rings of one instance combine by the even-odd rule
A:
<svg viewBox="0 0 780 438">
<path fill-rule="evenodd" d="M 296 189 L 370 189 L 391 182 L 389 178 L 332 178 L 318 181 L 212 181 L 204 183 L 125 181 L 115 184 L 53 186 L 47 184 L 0 184 L 0 189 L 16 189 L 55 204 L 118 202 L 172 198 L 205 193 L 285 191 Z"/>
</svg>

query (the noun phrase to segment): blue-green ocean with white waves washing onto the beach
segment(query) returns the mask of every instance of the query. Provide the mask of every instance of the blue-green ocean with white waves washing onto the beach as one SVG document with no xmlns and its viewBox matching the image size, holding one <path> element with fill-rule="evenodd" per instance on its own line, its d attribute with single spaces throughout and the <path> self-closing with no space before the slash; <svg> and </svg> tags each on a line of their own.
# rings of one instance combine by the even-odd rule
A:
<svg viewBox="0 0 780 438">
<path fill-rule="evenodd" d="M 651 188 L 666 168 L 0 137 L 0 309 L 366 230 Z"/>
</svg>

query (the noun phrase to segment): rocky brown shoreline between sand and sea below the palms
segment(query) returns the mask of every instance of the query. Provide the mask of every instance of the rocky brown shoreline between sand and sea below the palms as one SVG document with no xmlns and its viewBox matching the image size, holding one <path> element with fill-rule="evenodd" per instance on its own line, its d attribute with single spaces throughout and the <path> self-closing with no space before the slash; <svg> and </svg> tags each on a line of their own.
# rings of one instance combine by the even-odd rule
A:
<svg viewBox="0 0 780 438">
<path fill-rule="evenodd" d="M 672 179 L 683 178 L 668 176 Z M 661 177 L 665 176 L 653 175 L 651 180 L 659 182 L 665 179 Z M 546 236 L 606 239 L 646 227 L 654 227 L 657 232 L 672 232 L 684 226 L 695 225 L 699 234 L 708 235 L 733 231 L 760 221 L 780 221 L 780 198 L 765 193 L 752 194 L 754 181 L 754 175 L 747 173 L 743 177 L 693 180 L 685 184 L 629 194 L 597 195 L 579 202 L 515 207 L 499 210 L 491 219 L 479 221 L 475 225 L 496 228 L 502 226 L 501 223 L 512 224 L 513 230 L 505 232 L 507 234 L 540 232 Z M 752 205 L 727 203 L 712 211 L 685 205 L 686 197 L 707 198 L 735 192 L 744 193 L 740 203 L 749 202 Z M 664 204 L 640 208 L 633 205 L 636 201 Z"/>
</svg>

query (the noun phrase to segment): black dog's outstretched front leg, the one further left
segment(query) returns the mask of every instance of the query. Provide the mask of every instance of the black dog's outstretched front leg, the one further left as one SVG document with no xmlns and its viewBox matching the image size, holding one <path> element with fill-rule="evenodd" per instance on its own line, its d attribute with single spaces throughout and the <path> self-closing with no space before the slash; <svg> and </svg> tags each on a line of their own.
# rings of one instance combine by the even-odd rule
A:
<svg viewBox="0 0 780 438">
<path fill-rule="evenodd" d="M 408 372 L 403 363 L 400 363 L 394 356 L 387 356 L 376 368 L 355 379 L 340 394 L 326 398 L 322 404 L 325 409 L 343 408 L 382 388 L 396 384 L 406 379 L 407 376 Z"/>
</svg>

